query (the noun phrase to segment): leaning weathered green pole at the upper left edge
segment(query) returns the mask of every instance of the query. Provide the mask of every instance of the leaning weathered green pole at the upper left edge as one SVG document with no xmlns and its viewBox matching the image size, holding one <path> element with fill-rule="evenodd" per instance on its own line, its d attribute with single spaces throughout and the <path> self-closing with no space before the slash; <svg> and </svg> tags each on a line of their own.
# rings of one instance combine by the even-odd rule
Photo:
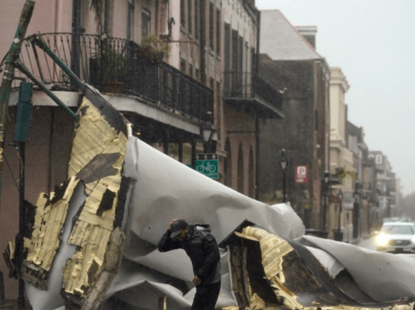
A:
<svg viewBox="0 0 415 310">
<path fill-rule="evenodd" d="M 35 2 L 26 0 L 21 11 L 20 22 L 17 26 L 16 34 L 13 39 L 12 46 L 6 57 L 6 66 L 4 68 L 3 79 L 0 88 L 0 191 L 3 174 L 3 150 L 4 150 L 4 129 L 7 122 L 7 112 L 9 109 L 10 88 L 14 78 L 15 65 L 14 62 L 19 58 L 21 45 L 26 35 L 27 26 L 32 17 Z M 1 201 L 1 192 L 0 192 Z"/>
</svg>

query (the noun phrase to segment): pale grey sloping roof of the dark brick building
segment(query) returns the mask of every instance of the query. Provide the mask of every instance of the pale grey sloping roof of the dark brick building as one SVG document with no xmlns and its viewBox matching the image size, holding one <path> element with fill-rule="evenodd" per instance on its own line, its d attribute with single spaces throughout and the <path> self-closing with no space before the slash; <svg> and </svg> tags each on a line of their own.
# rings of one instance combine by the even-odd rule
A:
<svg viewBox="0 0 415 310">
<path fill-rule="evenodd" d="M 273 60 L 321 59 L 280 10 L 261 11 L 260 53 Z"/>
</svg>

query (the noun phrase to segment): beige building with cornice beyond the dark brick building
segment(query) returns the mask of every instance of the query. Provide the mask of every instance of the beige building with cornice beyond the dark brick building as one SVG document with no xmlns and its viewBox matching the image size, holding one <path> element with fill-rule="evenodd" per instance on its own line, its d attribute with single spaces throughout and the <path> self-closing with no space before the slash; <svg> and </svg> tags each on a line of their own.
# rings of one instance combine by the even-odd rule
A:
<svg viewBox="0 0 415 310">
<path fill-rule="evenodd" d="M 331 68 L 330 79 L 330 174 L 338 175 L 342 184 L 330 188 L 328 232 L 340 226 L 344 239 L 352 238 L 353 180 L 357 174 L 353 153 L 346 146 L 347 106 L 345 94 L 350 85 L 340 68 Z M 339 189 L 343 192 L 342 209 L 339 223 Z"/>
</svg>

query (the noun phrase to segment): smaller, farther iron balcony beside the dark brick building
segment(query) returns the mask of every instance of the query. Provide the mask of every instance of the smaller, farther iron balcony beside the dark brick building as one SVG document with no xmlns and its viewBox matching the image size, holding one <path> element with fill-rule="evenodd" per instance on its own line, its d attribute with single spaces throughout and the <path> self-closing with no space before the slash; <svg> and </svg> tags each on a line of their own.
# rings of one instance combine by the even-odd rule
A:
<svg viewBox="0 0 415 310">
<path fill-rule="evenodd" d="M 262 77 L 251 72 L 224 73 L 224 100 L 227 104 L 247 109 L 260 118 L 283 118 L 283 95 Z"/>
</svg>

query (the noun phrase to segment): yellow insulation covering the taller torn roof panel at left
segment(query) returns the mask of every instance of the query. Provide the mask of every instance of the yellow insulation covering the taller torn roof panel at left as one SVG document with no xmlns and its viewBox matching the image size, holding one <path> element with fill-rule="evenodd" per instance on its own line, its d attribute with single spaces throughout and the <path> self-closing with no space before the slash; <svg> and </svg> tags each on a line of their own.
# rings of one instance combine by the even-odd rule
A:
<svg viewBox="0 0 415 310">
<path fill-rule="evenodd" d="M 105 255 L 111 252 L 110 237 L 114 231 L 113 222 L 116 216 L 127 137 L 122 132 L 117 134 L 100 111 L 86 98 L 83 98 L 81 110 L 85 115 L 80 117 L 79 127 L 75 132 L 68 174 L 75 176 L 97 155 L 120 154 L 112 165 L 116 169 L 115 174 L 85 184 L 88 197 L 68 238 L 68 243 L 78 246 L 78 250 L 66 262 L 62 286 L 67 294 L 87 297 L 91 291 L 94 291 L 91 287 L 93 283 L 97 283 L 96 280 L 103 272 Z M 112 203 L 102 213 L 97 213 L 106 191 L 114 195 Z M 122 232 L 121 234 L 124 235 Z M 111 255 L 118 254 L 111 252 Z M 121 258 L 119 261 L 117 259 L 117 264 L 120 262 Z M 112 279 L 112 276 L 106 276 L 105 279 Z M 95 289 L 97 290 L 100 289 Z"/>
</svg>

